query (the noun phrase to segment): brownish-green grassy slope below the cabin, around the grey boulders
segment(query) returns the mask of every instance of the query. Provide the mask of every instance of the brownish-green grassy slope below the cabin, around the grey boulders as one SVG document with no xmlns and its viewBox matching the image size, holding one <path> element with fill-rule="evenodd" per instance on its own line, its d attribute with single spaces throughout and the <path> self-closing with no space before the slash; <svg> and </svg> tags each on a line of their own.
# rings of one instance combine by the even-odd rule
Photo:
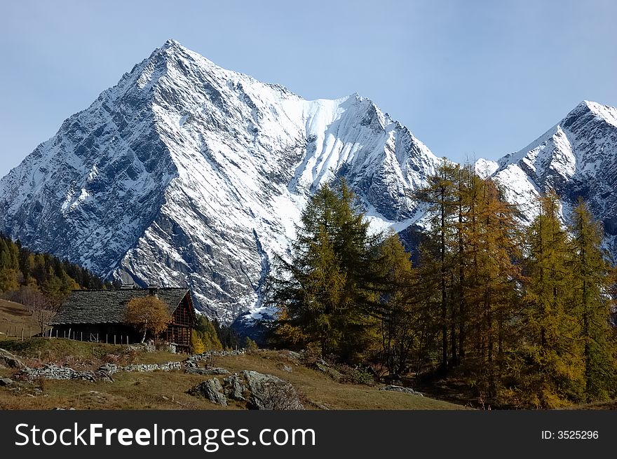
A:
<svg viewBox="0 0 617 459">
<path fill-rule="evenodd" d="M 5 340 L 0 341 L 0 348 L 18 355 L 29 366 L 55 362 L 82 370 L 93 369 L 103 362 L 153 364 L 186 357 L 55 338 Z M 227 369 L 231 374 L 252 370 L 278 376 L 292 383 L 306 409 L 463 409 L 428 397 L 338 383 L 321 371 L 294 362 L 285 351 L 257 350 L 246 355 L 214 357 L 208 364 Z M 0 369 L 0 378 L 12 378 L 14 374 L 14 369 Z M 113 382 L 16 381 L 0 387 L 0 409 L 221 409 L 206 399 L 187 394 L 187 390 L 209 378 L 182 371 L 121 371 L 114 374 Z M 236 402 L 226 409 L 245 409 L 245 406 Z"/>
</svg>

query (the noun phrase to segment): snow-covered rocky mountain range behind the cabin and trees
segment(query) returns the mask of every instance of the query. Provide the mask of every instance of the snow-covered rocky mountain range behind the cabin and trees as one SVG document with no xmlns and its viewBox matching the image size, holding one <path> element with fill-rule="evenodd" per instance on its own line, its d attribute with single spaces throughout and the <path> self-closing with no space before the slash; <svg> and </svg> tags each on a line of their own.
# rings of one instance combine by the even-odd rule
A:
<svg viewBox="0 0 617 459">
<path fill-rule="evenodd" d="M 411 192 L 437 158 L 353 94 L 307 101 L 167 41 L 0 180 L 0 231 L 107 279 L 187 285 L 198 309 L 262 317 L 273 254 L 307 196 L 345 177 L 372 227 L 422 226 Z M 554 187 L 567 220 L 588 200 L 617 255 L 617 109 L 582 102 L 497 162 L 478 160 L 524 221 Z"/>
</svg>

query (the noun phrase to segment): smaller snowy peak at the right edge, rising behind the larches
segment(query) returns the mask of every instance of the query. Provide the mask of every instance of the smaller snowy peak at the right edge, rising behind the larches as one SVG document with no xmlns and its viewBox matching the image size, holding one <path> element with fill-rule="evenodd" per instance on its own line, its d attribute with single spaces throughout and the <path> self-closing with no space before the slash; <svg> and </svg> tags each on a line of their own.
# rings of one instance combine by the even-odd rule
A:
<svg viewBox="0 0 617 459">
<path fill-rule="evenodd" d="M 538 214 L 536 198 L 550 188 L 561 197 L 565 221 L 581 196 L 603 221 L 609 252 L 617 254 L 617 109 L 581 102 L 524 149 L 503 156 L 492 177 L 527 221 Z"/>
</svg>

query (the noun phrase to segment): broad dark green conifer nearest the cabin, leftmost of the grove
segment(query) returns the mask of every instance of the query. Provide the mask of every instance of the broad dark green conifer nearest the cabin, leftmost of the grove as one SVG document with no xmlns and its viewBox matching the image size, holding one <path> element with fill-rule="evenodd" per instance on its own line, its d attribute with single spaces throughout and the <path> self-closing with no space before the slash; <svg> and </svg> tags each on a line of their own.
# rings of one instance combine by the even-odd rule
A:
<svg viewBox="0 0 617 459">
<path fill-rule="evenodd" d="M 344 362 L 369 347 L 378 238 L 369 236 L 355 199 L 343 180 L 322 186 L 302 212 L 290 261 L 276 259 L 267 301 L 278 309 L 279 345 L 313 347 Z"/>
</svg>

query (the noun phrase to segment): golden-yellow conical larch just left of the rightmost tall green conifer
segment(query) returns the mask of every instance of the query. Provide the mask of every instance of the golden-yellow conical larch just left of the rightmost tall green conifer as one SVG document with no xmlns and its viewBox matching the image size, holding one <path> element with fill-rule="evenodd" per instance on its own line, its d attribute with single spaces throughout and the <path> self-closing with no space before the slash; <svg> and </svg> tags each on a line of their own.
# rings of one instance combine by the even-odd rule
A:
<svg viewBox="0 0 617 459">
<path fill-rule="evenodd" d="M 559 197 L 549 191 L 539 200 L 538 217 L 527 231 L 524 312 L 529 345 L 523 385 L 531 403 L 541 408 L 560 406 L 581 392 L 571 244 L 559 212 Z"/>
</svg>

